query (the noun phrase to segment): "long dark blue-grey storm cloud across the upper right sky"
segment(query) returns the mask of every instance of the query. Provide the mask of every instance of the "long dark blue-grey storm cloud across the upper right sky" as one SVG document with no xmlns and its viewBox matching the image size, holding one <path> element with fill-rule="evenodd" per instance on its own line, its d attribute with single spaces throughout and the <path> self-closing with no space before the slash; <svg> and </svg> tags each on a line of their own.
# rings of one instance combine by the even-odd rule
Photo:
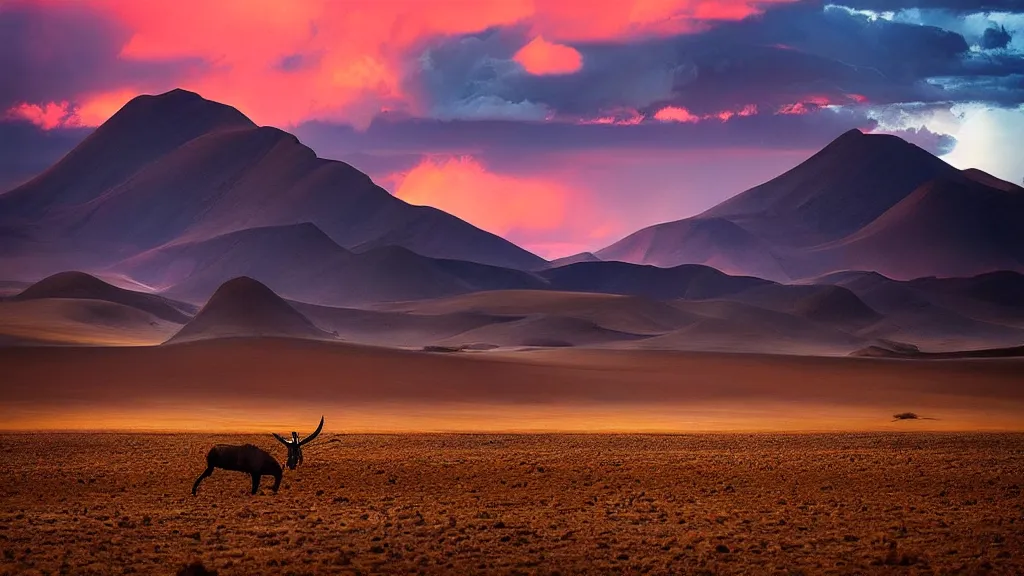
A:
<svg viewBox="0 0 1024 576">
<path fill-rule="evenodd" d="M 701 34 L 573 44 L 584 67 L 570 75 L 522 71 L 510 58 L 525 40 L 519 30 L 447 39 L 424 51 L 408 84 L 435 111 L 486 100 L 515 113 L 543 109 L 594 117 L 616 108 L 650 113 L 667 105 L 696 114 L 746 105 L 773 112 L 810 96 L 835 104 L 858 95 L 872 104 L 944 100 L 956 97 L 955 90 L 930 79 L 984 83 L 1024 70 L 1019 54 L 972 53 L 956 32 L 810 1 Z M 993 101 L 1014 104 L 1007 95 L 993 94 Z"/>
</svg>

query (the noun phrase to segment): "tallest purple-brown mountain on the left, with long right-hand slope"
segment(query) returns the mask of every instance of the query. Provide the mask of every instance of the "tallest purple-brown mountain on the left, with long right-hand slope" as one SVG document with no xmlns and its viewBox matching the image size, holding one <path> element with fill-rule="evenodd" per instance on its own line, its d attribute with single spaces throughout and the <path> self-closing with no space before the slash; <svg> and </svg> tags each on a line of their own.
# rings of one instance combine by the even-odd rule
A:
<svg viewBox="0 0 1024 576">
<path fill-rule="evenodd" d="M 0 230 L 41 246 L 88 247 L 89 265 L 307 221 L 345 248 L 397 245 L 512 269 L 544 264 L 451 214 L 402 202 L 287 132 L 183 90 L 125 105 L 51 169 L 0 196 Z"/>
</svg>

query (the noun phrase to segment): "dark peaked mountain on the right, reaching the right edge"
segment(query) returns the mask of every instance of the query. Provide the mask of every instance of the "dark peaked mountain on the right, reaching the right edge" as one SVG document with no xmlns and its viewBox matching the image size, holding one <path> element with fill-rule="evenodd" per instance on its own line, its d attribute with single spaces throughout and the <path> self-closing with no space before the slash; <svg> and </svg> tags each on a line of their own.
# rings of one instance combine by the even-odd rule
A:
<svg viewBox="0 0 1024 576">
<path fill-rule="evenodd" d="M 596 255 L 779 282 L 846 270 L 973 276 L 1024 271 L 1021 221 L 1024 189 L 896 136 L 851 130 L 768 182 Z"/>
</svg>

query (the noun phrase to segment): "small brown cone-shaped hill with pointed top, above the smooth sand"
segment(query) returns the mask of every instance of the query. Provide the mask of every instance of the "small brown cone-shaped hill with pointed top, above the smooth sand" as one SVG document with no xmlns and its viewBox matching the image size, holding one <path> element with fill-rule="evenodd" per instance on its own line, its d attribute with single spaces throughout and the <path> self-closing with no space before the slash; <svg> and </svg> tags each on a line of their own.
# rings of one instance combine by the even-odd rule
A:
<svg viewBox="0 0 1024 576">
<path fill-rule="evenodd" d="M 253 336 L 333 339 L 272 290 L 242 277 L 218 288 L 167 343 Z"/>
</svg>

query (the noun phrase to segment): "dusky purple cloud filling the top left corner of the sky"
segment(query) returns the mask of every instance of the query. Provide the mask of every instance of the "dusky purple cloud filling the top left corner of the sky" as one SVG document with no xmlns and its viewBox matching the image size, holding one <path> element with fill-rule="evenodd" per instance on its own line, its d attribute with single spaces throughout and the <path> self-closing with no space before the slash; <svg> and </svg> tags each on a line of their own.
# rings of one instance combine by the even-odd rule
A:
<svg viewBox="0 0 1024 576">
<path fill-rule="evenodd" d="M 0 2 L 0 109 L 22 101 L 73 101 L 126 84 L 144 89 L 202 66 L 122 59 L 129 38 L 128 30 L 81 4 Z"/>
</svg>

